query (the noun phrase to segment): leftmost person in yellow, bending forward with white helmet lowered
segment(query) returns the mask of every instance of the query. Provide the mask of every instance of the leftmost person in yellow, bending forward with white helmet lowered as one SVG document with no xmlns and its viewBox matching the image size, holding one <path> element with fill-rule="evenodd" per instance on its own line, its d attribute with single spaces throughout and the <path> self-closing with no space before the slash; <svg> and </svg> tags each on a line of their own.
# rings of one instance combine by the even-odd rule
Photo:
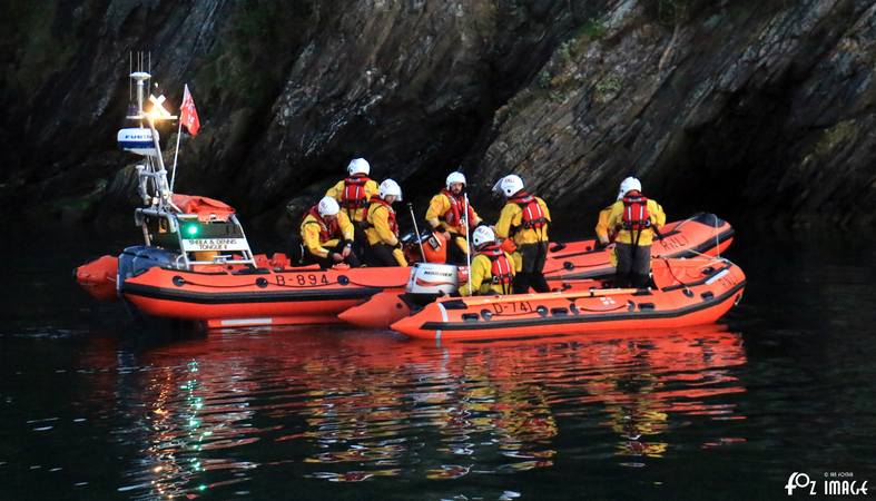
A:
<svg viewBox="0 0 876 501">
<path fill-rule="evenodd" d="M 353 224 L 334 198 L 323 197 L 311 207 L 302 222 L 301 235 L 311 261 L 319 267 L 331 268 L 342 262 L 360 266 L 353 252 Z"/>
</svg>

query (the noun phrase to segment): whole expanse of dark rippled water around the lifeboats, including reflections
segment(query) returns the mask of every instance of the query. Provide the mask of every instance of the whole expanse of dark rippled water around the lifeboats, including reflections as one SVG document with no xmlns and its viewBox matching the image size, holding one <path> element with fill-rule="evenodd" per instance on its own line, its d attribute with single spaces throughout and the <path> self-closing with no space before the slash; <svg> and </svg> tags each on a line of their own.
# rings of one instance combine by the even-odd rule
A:
<svg viewBox="0 0 876 501">
<path fill-rule="evenodd" d="M 793 472 L 876 481 L 876 245 L 855 235 L 741 235 L 749 285 L 721 325 L 443 346 L 138 326 L 70 276 L 127 238 L 0 250 L 0 499 L 789 499 Z"/>
</svg>

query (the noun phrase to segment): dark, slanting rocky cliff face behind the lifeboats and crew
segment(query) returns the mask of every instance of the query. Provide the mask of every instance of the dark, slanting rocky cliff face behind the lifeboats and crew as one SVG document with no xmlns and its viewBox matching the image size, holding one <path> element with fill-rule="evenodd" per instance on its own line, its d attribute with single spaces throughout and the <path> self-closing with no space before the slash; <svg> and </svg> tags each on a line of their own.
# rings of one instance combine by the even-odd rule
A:
<svg viewBox="0 0 876 501">
<path fill-rule="evenodd" d="M 112 140 L 128 52 L 147 49 L 161 91 L 178 104 L 188 82 L 201 116 L 179 190 L 250 220 L 284 224 L 354 156 L 420 206 L 460 165 L 479 206 L 514 171 L 587 233 L 630 173 L 670 217 L 876 220 L 874 1 L 14 3 L 4 206 L 130 208 Z"/>
</svg>

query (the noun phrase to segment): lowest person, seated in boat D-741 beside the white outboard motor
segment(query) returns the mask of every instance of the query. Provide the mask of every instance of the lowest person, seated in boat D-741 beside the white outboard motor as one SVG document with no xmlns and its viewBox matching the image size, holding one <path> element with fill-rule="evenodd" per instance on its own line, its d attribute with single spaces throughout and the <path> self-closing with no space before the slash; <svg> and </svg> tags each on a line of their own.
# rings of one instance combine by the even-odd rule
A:
<svg viewBox="0 0 876 501">
<path fill-rule="evenodd" d="M 503 295 L 511 294 L 514 281 L 514 259 L 495 242 L 489 226 L 479 226 L 472 234 L 476 252 L 469 271 L 469 283 L 460 287 L 460 294 Z"/>
</svg>

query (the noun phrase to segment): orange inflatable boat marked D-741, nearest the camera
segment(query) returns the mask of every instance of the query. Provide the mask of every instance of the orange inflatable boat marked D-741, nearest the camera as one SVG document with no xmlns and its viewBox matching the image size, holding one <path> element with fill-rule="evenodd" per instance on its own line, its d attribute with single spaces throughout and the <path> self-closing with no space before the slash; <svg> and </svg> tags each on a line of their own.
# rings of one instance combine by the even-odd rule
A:
<svg viewBox="0 0 876 501">
<path fill-rule="evenodd" d="M 654 289 L 590 289 L 446 297 L 395 322 L 412 337 L 466 340 L 668 328 L 717 321 L 741 299 L 742 271 L 727 259 L 654 259 Z"/>
</svg>

